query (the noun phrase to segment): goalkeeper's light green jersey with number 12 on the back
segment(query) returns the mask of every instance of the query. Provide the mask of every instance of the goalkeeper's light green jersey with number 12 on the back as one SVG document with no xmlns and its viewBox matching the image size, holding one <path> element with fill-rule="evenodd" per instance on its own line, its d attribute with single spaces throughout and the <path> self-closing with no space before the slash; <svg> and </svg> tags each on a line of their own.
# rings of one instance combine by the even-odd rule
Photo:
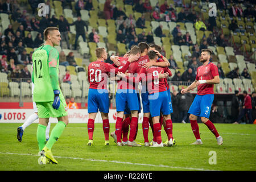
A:
<svg viewBox="0 0 256 182">
<path fill-rule="evenodd" d="M 34 81 L 34 102 L 51 102 L 54 100 L 53 90 L 59 88 L 59 52 L 56 48 L 44 45 L 36 49 L 32 55 Z M 57 72 L 56 83 L 52 84 L 49 68 L 55 67 Z M 55 85 L 53 88 L 52 85 Z"/>
</svg>

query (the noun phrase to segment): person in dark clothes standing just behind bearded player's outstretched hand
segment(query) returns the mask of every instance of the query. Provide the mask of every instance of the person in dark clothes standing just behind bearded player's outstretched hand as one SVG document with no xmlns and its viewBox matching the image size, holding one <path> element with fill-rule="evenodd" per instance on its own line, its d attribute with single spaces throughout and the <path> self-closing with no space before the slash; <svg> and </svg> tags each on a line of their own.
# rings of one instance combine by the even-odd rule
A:
<svg viewBox="0 0 256 182">
<path fill-rule="evenodd" d="M 186 123 L 188 114 L 187 97 L 186 94 L 177 94 L 177 105 L 179 109 L 179 122 Z"/>
</svg>

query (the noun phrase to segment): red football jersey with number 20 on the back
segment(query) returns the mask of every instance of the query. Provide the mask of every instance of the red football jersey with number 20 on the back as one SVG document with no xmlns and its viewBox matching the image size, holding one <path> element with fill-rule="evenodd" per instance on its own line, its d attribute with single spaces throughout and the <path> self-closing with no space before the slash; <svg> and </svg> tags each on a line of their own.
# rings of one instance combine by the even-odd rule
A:
<svg viewBox="0 0 256 182">
<path fill-rule="evenodd" d="M 112 64 L 104 61 L 94 61 L 88 66 L 88 81 L 90 82 L 90 89 L 107 89 L 108 75 L 110 71 L 116 74 L 118 71 L 125 72 L 129 67 L 130 62 L 126 63 L 121 68 L 116 68 Z"/>
</svg>

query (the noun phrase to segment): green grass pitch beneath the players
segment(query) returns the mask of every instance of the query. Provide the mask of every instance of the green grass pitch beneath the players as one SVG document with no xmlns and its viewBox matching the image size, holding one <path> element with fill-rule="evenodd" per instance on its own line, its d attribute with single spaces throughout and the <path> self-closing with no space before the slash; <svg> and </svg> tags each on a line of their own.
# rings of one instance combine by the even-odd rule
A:
<svg viewBox="0 0 256 182">
<path fill-rule="evenodd" d="M 256 126 L 214 124 L 224 139 L 217 145 L 214 135 L 207 126 L 199 123 L 203 145 L 191 146 L 195 137 L 189 123 L 174 123 L 176 146 L 173 147 L 118 147 L 112 137 L 110 146 L 104 145 L 102 124 L 96 123 L 93 146 L 88 142 L 87 124 L 70 123 L 52 147 L 59 164 L 38 164 L 37 123 L 24 131 L 22 142 L 16 139 L 16 129 L 21 123 L 1 123 L 0 127 L 0 170 L 95 170 L 95 171 L 168 171 L 168 170 L 255 170 Z M 143 143 L 141 123 L 137 141 Z M 52 123 L 51 130 L 55 126 Z M 110 123 L 110 132 L 114 131 Z M 152 139 L 151 129 L 149 139 Z M 163 142 L 167 139 L 162 129 Z M 216 152 L 216 164 L 209 164 L 210 151 Z M 212 158 L 210 161 L 213 161 Z"/>
</svg>

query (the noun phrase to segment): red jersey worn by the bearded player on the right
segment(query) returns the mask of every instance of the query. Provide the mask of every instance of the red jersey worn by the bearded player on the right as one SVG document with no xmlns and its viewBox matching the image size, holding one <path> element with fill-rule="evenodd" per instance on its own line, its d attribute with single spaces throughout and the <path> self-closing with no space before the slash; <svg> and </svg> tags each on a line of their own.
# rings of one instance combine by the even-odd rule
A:
<svg viewBox="0 0 256 182">
<path fill-rule="evenodd" d="M 210 62 L 207 65 L 201 65 L 197 68 L 196 80 L 212 80 L 214 76 L 218 75 L 218 68 L 215 64 Z M 213 84 L 200 84 L 197 86 L 197 94 L 214 94 Z"/>
</svg>

